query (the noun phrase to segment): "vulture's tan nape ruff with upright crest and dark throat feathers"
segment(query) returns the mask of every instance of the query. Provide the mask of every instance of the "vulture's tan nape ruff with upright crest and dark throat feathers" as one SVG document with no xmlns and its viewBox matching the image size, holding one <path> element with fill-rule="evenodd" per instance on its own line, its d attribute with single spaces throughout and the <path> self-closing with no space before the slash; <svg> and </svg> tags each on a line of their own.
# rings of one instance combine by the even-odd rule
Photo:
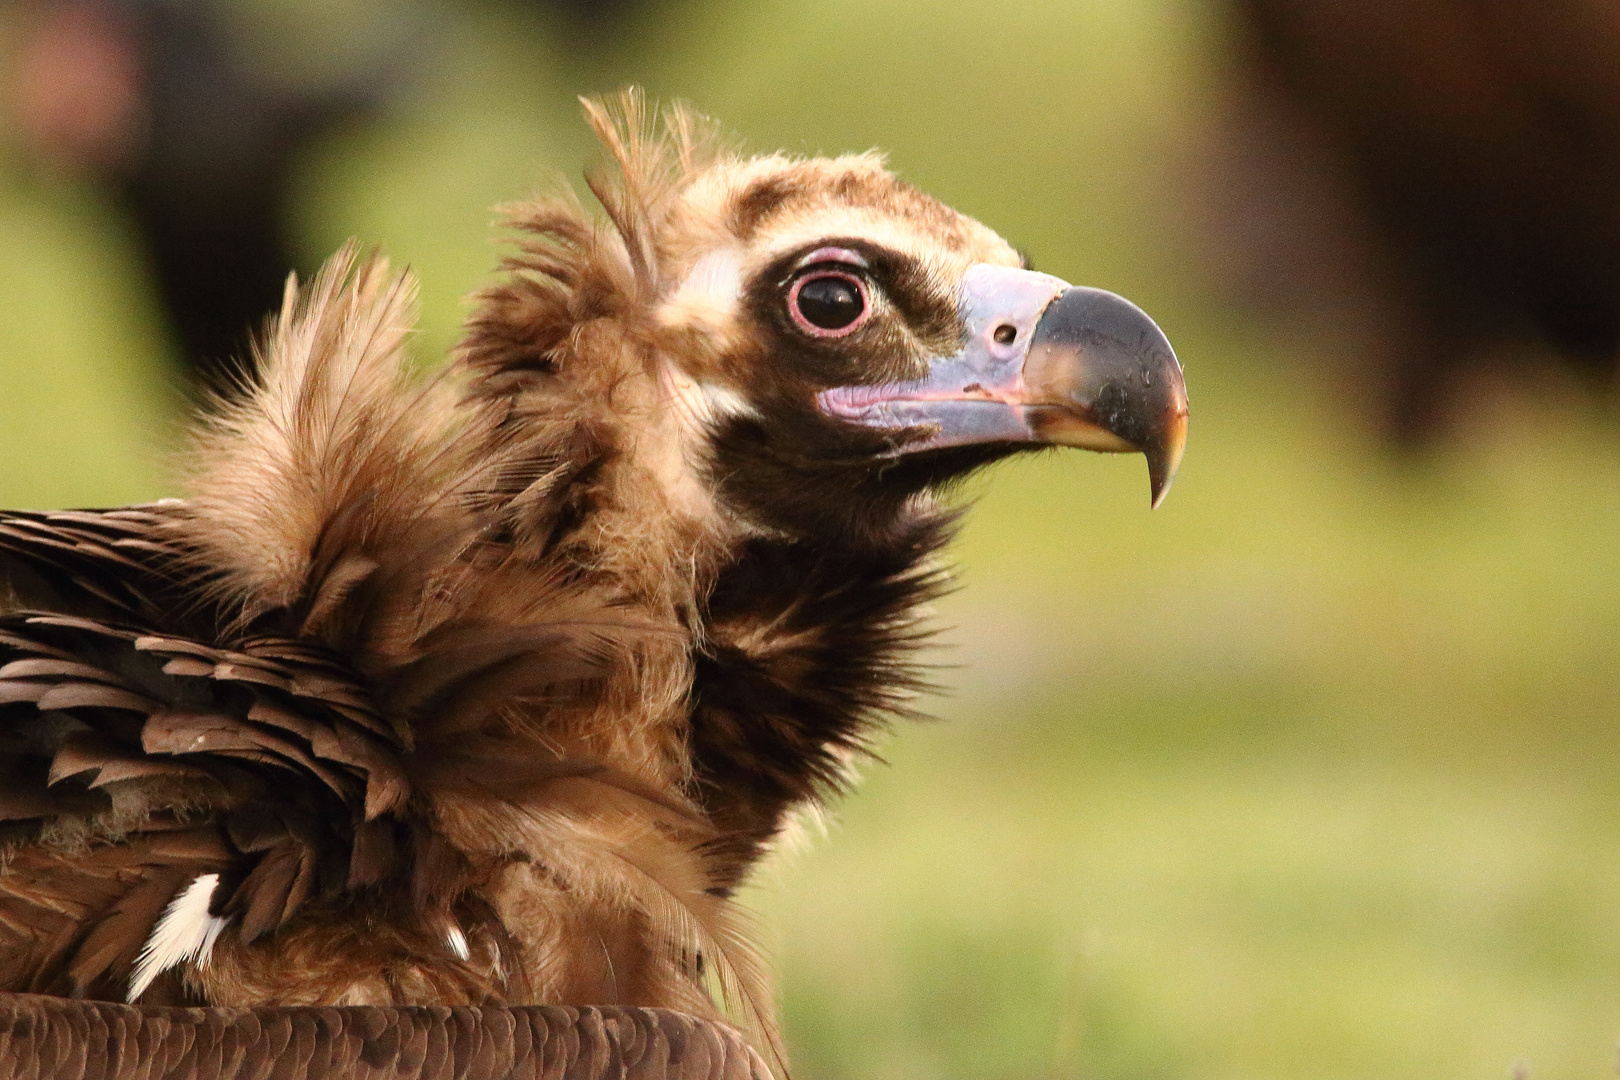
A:
<svg viewBox="0 0 1620 1080">
<path fill-rule="evenodd" d="M 685 792 L 718 826 L 708 850 L 729 889 L 795 806 L 849 780 L 886 717 L 909 712 L 927 604 L 946 585 L 935 555 L 956 515 L 906 494 L 927 478 L 883 486 L 855 470 L 812 492 L 766 471 L 748 499 L 710 473 L 716 447 L 763 445 L 750 437 L 761 418 L 684 374 L 714 363 L 713 343 L 672 335 L 653 313 L 693 279 L 713 285 L 695 291 L 726 291 L 710 282 L 724 259 L 693 264 L 654 243 L 714 151 L 684 113 L 664 139 L 646 138 L 629 105 L 617 121 L 588 107 L 617 165 L 591 176 L 608 220 L 567 196 L 509 207 L 520 243 L 507 279 L 480 295 L 457 363 L 491 450 L 515 447 L 520 461 L 502 495 L 509 542 L 549 551 L 677 631 L 684 653 L 664 670 L 679 675 L 658 683 L 671 708 L 656 724 L 680 738 Z M 784 512 L 794 499 L 820 508 Z M 771 518 L 828 528 L 760 526 Z"/>
</svg>

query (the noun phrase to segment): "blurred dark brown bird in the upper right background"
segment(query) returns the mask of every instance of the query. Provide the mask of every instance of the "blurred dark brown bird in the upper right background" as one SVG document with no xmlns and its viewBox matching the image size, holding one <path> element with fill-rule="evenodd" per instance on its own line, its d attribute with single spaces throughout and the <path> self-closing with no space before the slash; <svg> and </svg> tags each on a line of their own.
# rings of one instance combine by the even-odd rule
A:
<svg viewBox="0 0 1620 1080">
<path fill-rule="evenodd" d="M 1236 0 L 1259 96 L 1319 144 L 1354 217 L 1290 219 L 1312 261 L 1367 257 L 1400 440 L 1434 434 L 1471 376 L 1620 359 L 1620 6 L 1604 0 Z M 1290 126 L 1291 125 L 1291 126 Z M 1244 186 L 1256 164 L 1243 165 Z M 1265 207 L 1262 212 L 1286 206 Z M 1296 262 L 1299 261 L 1296 257 Z M 1278 285 L 1309 274 L 1272 267 Z M 1366 363 L 1366 355 L 1358 358 Z M 1366 385 L 1358 371 L 1358 385 Z M 1529 381 L 1526 381 L 1529 382 Z M 1544 382 L 1542 382 L 1544 385 Z"/>
</svg>

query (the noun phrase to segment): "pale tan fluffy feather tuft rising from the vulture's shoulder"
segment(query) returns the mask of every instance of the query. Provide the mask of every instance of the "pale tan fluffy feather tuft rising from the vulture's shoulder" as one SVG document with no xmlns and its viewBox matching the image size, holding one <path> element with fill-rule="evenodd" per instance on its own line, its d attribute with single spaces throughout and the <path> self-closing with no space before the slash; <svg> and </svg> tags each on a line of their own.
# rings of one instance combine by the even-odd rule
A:
<svg viewBox="0 0 1620 1080">
<path fill-rule="evenodd" d="M 441 499 L 454 411 L 408 364 L 415 317 L 415 280 L 348 243 L 308 290 L 288 279 L 258 382 L 206 418 L 181 534 L 245 617 L 305 597 L 334 525 L 358 551 Z"/>
</svg>

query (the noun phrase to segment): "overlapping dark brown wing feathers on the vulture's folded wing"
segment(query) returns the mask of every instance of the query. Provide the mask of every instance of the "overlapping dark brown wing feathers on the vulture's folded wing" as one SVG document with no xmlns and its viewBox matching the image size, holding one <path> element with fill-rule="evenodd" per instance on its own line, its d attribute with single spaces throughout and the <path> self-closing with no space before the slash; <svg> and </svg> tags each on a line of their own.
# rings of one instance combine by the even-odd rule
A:
<svg viewBox="0 0 1620 1080">
<path fill-rule="evenodd" d="M 376 844 L 352 873 L 353 824 L 402 806 L 408 784 L 387 727 L 348 719 L 368 711 L 347 704 L 364 696 L 340 667 L 311 678 L 345 703 L 322 708 L 290 691 L 284 657 L 31 612 L 0 615 L 0 819 L 34 837 L 0 873 L 5 986 L 117 994 L 199 873 L 224 873 L 220 912 L 249 938 L 350 878 L 402 873 Z M 175 813 L 198 811 L 177 831 Z"/>
</svg>

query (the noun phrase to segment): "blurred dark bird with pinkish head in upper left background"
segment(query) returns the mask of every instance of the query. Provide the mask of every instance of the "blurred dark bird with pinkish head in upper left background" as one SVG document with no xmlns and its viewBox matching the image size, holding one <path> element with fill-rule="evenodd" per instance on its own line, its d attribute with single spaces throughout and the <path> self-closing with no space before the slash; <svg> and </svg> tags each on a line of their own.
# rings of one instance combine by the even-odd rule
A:
<svg viewBox="0 0 1620 1080">
<path fill-rule="evenodd" d="M 254 63 L 245 23 L 224 0 L 34 0 L 6 79 L 32 149 L 128 212 L 204 390 L 237 374 L 296 264 L 288 202 L 306 152 L 376 118 L 423 52 L 379 32 L 321 78 L 288 79 Z"/>
</svg>

